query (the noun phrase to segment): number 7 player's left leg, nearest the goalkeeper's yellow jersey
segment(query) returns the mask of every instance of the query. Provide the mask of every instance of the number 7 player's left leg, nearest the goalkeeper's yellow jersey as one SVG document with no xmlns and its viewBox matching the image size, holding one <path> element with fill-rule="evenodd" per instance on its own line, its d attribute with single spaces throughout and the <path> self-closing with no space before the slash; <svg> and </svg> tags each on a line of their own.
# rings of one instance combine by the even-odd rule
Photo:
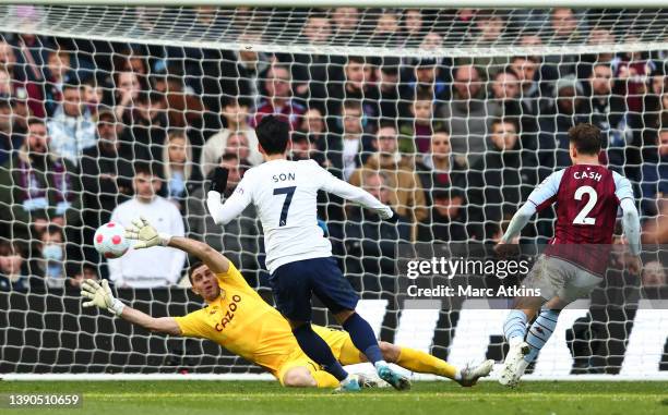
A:
<svg viewBox="0 0 668 415">
<path fill-rule="evenodd" d="M 348 373 L 336 361 L 332 350 L 311 328 L 311 288 L 308 272 L 300 261 L 281 266 L 270 278 L 276 308 L 289 321 L 293 334 L 303 353 L 341 382 L 348 385 Z"/>
</svg>

